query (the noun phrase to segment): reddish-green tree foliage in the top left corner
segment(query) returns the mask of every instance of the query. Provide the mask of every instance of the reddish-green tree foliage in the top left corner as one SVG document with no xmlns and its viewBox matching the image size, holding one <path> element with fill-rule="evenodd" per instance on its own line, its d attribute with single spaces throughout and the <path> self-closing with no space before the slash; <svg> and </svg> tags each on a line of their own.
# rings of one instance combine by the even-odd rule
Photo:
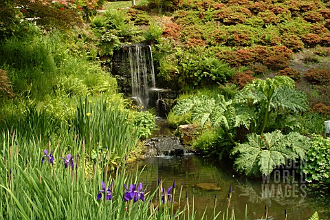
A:
<svg viewBox="0 0 330 220">
<path fill-rule="evenodd" d="M 0 33 L 14 30 L 21 19 L 34 19 L 45 28 L 67 28 L 83 22 L 102 0 L 8 0 L 0 1 Z"/>
</svg>

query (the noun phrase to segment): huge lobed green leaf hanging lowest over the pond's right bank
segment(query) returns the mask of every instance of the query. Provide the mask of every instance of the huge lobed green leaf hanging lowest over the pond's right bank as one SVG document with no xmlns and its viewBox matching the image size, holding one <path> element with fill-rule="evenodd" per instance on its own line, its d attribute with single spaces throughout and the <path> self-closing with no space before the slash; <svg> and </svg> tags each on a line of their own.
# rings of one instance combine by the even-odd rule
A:
<svg viewBox="0 0 330 220">
<path fill-rule="evenodd" d="M 299 133 L 251 133 L 247 143 L 238 144 L 232 150 L 232 155 L 237 155 L 236 170 L 250 176 L 270 175 L 276 166 L 285 164 L 286 159 L 305 159 L 308 140 Z"/>
</svg>

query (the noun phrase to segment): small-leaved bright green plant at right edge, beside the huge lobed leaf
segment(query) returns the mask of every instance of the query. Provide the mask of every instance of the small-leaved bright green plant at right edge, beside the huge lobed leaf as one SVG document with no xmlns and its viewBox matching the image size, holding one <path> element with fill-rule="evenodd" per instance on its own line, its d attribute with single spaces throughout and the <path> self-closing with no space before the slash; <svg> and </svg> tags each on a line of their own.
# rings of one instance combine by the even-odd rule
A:
<svg viewBox="0 0 330 220">
<path fill-rule="evenodd" d="M 305 172 L 309 181 L 323 181 L 330 184 L 330 137 L 311 137 L 311 148 L 307 152 Z"/>
</svg>

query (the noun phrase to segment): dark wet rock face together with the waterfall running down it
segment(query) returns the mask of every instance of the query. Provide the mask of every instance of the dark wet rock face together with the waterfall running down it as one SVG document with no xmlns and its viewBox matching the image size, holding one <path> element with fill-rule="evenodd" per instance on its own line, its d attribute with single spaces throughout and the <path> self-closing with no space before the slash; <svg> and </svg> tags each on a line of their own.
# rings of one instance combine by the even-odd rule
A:
<svg viewBox="0 0 330 220">
<path fill-rule="evenodd" d="M 155 108 L 157 115 L 166 117 L 170 100 L 177 96 L 171 89 L 157 89 L 151 46 L 144 44 L 122 45 L 113 52 L 111 74 L 115 76 L 120 92 L 135 100 L 142 111 Z"/>
</svg>

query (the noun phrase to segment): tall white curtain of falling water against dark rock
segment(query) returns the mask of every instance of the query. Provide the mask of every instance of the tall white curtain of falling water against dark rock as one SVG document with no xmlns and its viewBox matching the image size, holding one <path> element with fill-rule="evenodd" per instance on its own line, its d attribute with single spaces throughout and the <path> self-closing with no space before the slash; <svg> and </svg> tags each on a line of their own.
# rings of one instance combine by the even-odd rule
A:
<svg viewBox="0 0 330 220">
<path fill-rule="evenodd" d="M 149 92 L 156 87 L 153 54 L 150 45 L 130 45 L 129 65 L 131 67 L 132 98 L 148 109 Z"/>
</svg>

